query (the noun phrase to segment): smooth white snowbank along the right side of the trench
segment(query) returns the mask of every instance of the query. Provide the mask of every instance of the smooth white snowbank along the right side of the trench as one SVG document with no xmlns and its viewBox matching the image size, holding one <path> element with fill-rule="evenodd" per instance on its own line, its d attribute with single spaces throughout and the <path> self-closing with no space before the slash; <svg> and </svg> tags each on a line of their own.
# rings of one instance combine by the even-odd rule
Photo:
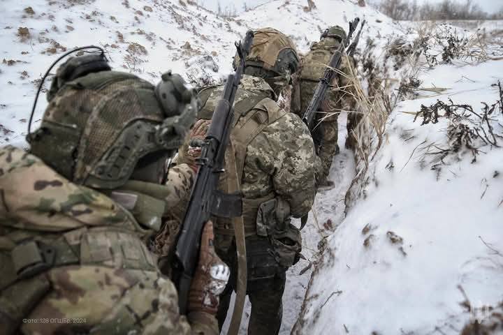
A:
<svg viewBox="0 0 503 335">
<path fill-rule="evenodd" d="M 425 148 L 445 147 L 449 121 L 420 126 L 410 114 L 437 99 L 476 112 L 481 101 L 495 103 L 491 84 L 503 80 L 503 61 L 437 66 L 419 79 L 449 89 L 422 92 L 389 117 L 386 144 L 370 163 L 373 181 L 328 241 L 298 334 L 459 334 L 474 316 L 460 305 L 462 290 L 474 308 L 503 299 L 503 258 L 493 250 L 503 250 L 502 149 L 483 147 L 475 163 L 462 152 L 438 174 Z M 493 119 L 501 134 L 502 113 Z"/>
</svg>

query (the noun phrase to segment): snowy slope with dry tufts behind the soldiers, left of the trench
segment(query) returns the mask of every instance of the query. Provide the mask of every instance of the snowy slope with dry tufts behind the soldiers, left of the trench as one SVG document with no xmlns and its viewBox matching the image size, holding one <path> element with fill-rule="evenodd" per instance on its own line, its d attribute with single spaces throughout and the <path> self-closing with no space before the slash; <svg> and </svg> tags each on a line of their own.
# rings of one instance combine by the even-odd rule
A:
<svg viewBox="0 0 503 335">
<path fill-rule="evenodd" d="M 333 15 L 335 5 L 340 15 Z M 189 79 L 220 80 L 232 70 L 234 41 L 250 28 L 280 29 L 301 51 L 328 25 L 347 27 L 356 15 L 370 21 L 365 34 L 381 34 L 377 40 L 383 43 L 386 34 L 397 31 L 397 24 L 372 8 L 342 0 L 316 1 L 316 6 L 305 11 L 305 1 L 277 0 L 223 18 L 184 0 L 0 1 L 0 44 L 8 46 L 0 51 L 0 144 L 26 145 L 40 78 L 52 61 L 74 47 L 99 45 L 113 68 L 152 82 L 169 69 Z M 39 99 L 35 128 L 45 105 L 45 98 Z"/>
</svg>

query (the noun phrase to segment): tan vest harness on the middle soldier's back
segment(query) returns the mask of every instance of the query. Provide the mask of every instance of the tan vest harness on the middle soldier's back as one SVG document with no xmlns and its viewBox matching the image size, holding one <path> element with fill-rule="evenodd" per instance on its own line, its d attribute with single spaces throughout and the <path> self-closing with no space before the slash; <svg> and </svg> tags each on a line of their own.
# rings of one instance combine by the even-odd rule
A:
<svg viewBox="0 0 503 335">
<path fill-rule="evenodd" d="M 199 97 L 203 103 L 198 118 L 211 119 L 214 107 L 221 97 L 221 90 L 216 87 L 207 87 L 203 89 Z M 284 110 L 278 107 L 277 103 L 270 98 L 268 91 L 254 91 L 253 93 L 245 89 L 238 89 L 235 96 L 234 104 L 234 124 L 231 132 L 231 143 L 233 144 L 233 153 L 226 153 L 226 166 L 235 163 L 236 172 L 239 183 L 241 184 L 243 170 L 245 168 L 245 159 L 247 154 L 248 144 L 270 124 L 277 121 L 286 114 Z M 227 150 L 230 150 L 231 146 Z M 227 171 L 231 170 L 226 168 Z M 220 179 L 219 188 L 221 191 L 226 190 L 224 181 L 228 178 L 224 172 Z M 245 223 L 245 234 L 251 236 L 256 234 L 256 217 L 258 207 L 261 203 L 275 198 L 274 192 L 269 193 L 261 198 L 243 198 L 242 213 Z M 218 218 L 215 224 L 215 232 L 217 234 L 233 235 L 233 227 L 231 221 Z"/>
</svg>

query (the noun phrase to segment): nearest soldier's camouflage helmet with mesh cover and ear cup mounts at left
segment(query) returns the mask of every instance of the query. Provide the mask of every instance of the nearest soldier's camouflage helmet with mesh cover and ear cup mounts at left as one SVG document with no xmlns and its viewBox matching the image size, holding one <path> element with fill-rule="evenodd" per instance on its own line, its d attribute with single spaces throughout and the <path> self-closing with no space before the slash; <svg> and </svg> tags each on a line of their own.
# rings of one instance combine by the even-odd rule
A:
<svg viewBox="0 0 503 335">
<path fill-rule="evenodd" d="M 122 186 L 140 160 L 180 147 L 194 122 L 193 90 L 179 75 L 162 79 L 156 89 L 136 75 L 104 70 L 65 82 L 50 92 L 40 128 L 27 137 L 31 152 L 76 184 Z"/>
</svg>

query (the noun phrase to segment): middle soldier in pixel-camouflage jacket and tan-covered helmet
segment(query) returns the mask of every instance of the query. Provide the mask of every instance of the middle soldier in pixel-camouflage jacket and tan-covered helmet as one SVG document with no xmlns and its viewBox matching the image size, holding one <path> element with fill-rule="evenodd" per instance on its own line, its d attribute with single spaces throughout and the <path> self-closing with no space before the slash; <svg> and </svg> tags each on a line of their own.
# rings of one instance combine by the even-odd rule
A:
<svg viewBox="0 0 503 335">
<path fill-rule="evenodd" d="M 247 295 L 251 302 L 248 334 L 278 334 L 282 322 L 282 295 L 286 269 L 295 264 L 301 249 L 300 230 L 290 223 L 311 209 L 314 200 L 314 144 L 307 126 L 276 103 L 289 105 L 291 74 L 298 56 L 291 40 L 272 28 L 255 31 L 245 62 L 245 75 L 235 96 L 231 145 L 222 181 L 240 181 L 247 251 Z M 198 156 L 214 106 L 223 87 L 206 87 L 199 97 L 203 108 L 179 162 Z M 231 168 L 235 166 L 235 169 Z M 237 176 L 231 175 L 232 170 Z M 221 190 L 226 191 L 226 183 Z M 221 295 L 217 318 L 226 318 L 231 292 L 236 288 L 236 251 L 231 222 L 215 221 L 215 246 L 231 267 L 231 279 Z"/>
</svg>

